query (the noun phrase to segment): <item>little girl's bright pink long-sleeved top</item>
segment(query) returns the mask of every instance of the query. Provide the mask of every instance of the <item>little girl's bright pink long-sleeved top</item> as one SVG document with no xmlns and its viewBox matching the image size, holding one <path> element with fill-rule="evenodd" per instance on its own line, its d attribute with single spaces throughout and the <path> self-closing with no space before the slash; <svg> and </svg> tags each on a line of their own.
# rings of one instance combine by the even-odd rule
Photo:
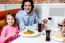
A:
<svg viewBox="0 0 65 43">
<path fill-rule="evenodd" d="M 10 35 L 10 33 L 12 32 L 15 32 L 17 33 L 18 32 L 18 27 L 11 27 L 9 25 L 6 25 L 3 27 L 3 31 L 1 33 L 1 37 L 0 37 L 0 43 L 6 43 L 4 42 L 4 38 L 7 36 L 7 35 Z M 17 37 L 17 34 L 13 37 L 11 37 L 10 39 L 7 40 L 7 43 L 10 43 L 12 40 L 14 40 L 15 38 Z"/>
</svg>

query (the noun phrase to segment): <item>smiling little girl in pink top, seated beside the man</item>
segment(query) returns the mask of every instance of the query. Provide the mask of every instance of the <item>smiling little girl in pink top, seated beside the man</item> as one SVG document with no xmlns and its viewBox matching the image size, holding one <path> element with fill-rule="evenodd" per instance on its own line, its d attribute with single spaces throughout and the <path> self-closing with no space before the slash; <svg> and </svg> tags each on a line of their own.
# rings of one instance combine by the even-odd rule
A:
<svg viewBox="0 0 65 43">
<path fill-rule="evenodd" d="M 18 36 L 18 26 L 16 24 L 15 14 L 7 14 L 5 22 L 6 25 L 3 27 L 3 31 L 1 33 L 0 43 L 10 43 Z"/>
</svg>

